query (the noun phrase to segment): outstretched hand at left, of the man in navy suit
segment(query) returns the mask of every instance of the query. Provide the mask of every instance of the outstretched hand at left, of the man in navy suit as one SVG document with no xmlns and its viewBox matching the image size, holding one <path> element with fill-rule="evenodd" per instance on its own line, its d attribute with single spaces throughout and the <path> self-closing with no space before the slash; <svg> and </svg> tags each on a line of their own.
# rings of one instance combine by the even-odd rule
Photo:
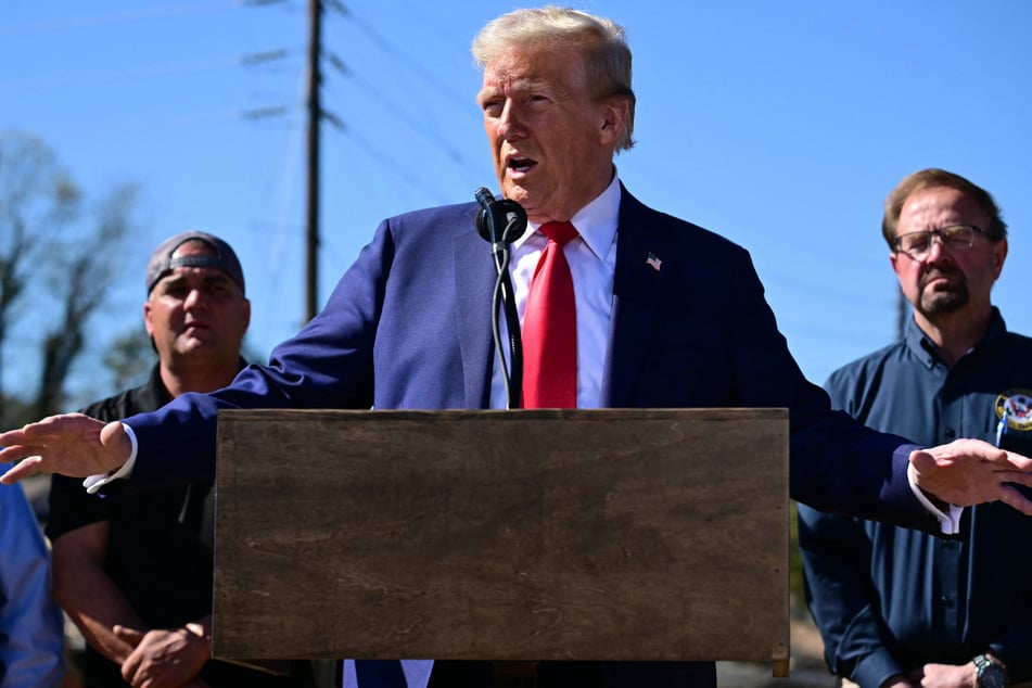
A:
<svg viewBox="0 0 1032 688">
<path fill-rule="evenodd" d="M 132 442 L 120 422 L 103 423 L 81 413 L 51 416 L 0 434 L 0 462 L 18 461 L 0 475 L 10 485 L 40 472 L 86 477 L 118 469 Z"/>
</svg>

